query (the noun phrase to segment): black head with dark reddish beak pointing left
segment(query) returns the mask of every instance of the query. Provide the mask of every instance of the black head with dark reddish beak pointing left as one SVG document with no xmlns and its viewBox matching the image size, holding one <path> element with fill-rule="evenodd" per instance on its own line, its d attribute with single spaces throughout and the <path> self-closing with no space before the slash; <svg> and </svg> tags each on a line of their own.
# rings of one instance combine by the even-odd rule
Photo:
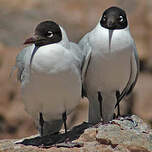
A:
<svg viewBox="0 0 152 152">
<path fill-rule="evenodd" d="M 27 39 L 24 44 L 34 43 L 36 46 L 43 46 L 60 42 L 62 32 L 58 24 L 53 21 L 44 21 L 37 25 L 33 37 Z"/>
</svg>

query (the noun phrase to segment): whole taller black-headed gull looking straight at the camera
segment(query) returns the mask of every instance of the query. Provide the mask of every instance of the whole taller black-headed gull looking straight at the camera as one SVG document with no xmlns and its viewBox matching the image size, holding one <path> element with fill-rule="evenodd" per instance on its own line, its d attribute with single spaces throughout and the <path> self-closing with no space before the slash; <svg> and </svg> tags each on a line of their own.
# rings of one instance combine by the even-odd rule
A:
<svg viewBox="0 0 152 152">
<path fill-rule="evenodd" d="M 84 81 L 89 122 L 98 123 L 101 117 L 108 122 L 113 118 L 114 108 L 134 88 L 139 74 L 139 59 L 125 12 L 117 7 L 105 10 L 79 46 L 85 55 L 91 52 Z M 118 98 L 117 91 L 120 92 Z"/>
</svg>

